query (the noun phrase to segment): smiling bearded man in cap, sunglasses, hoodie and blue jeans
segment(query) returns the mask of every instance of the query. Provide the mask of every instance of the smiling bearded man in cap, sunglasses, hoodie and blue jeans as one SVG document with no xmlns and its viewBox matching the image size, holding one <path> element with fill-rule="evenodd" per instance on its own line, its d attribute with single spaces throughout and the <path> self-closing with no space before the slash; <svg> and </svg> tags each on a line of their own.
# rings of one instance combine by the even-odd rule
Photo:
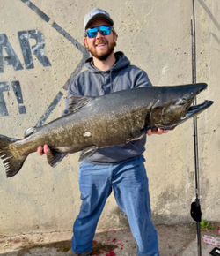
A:
<svg viewBox="0 0 220 256">
<path fill-rule="evenodd" d="M 131 65 L 122 52 L 114 54 L 117 34 L 114 21 L 106 11 L 93 9 L 84 17 L 84 46 L 92 54 L 81 72 L 71 81 L 68 96 L 100 96 L 133 87 L 151 86 L 146 72 Z M 67 102 L 68 105 L 68 102 Z M 67 106 L 68 108 L 68 106 Z M 167 131 L 166 131 L 167 132 Z M 165 131 L 148 131 L 148 135 Z M 106 199 L 114 190 L 119 207 L 128 216 L 138 246 L 138 256 L 158 256 L 158 235 L 150 217 L 148 178 L 143 152 L 146 136 L 126 145 L 99 148 L 85 159 L 79 170 L 79 189 L 83 200 L 74 223 L 71 250 L 68 256 L 92 253 L 92 239 Z M 42 155 L 48 146 L 38 148 Z"/>
</svg>

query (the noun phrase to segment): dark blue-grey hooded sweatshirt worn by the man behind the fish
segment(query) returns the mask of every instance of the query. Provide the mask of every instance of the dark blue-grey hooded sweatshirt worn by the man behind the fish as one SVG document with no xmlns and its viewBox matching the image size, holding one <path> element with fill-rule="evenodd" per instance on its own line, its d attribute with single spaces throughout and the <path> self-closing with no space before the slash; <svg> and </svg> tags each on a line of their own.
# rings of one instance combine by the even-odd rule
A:
<svg viewBox="0 0 220 256">
<path fill-rule="evenodd" d="M 92 63 L 92 57 L 85 62 L 87 70 L 78 74 L 70 83 L 67 98 L 71 94 L 101 96 L 134 87 L 152 86 L 143 70 L 131 65 L 122 52 L 115 53 L 116 62 L 111 69 L 103 72 Z M 68 109 L 68 101 L 66 102 Z M 99 148 L 95 154 L 85 159 L 92 164 L 118 164 L 136 158 L 145 150 L 146 136 L 115 147 Z"/>
</svg>

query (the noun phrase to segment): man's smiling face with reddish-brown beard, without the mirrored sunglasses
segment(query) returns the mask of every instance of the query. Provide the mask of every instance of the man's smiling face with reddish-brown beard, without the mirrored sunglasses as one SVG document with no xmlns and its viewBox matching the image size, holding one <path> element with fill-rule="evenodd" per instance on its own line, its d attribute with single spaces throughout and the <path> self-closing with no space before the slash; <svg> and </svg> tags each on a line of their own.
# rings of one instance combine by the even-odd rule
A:
<svg viewBox="0 0 220 256">
<path fill-rule="evenodd" d="M 88 28 L 101 25 L 109 24 L 105 19 L 96 19 L 92 21 Z M 84 37 L 84 44 L 92 56 L 98 58 L 99 60 L 106 60 L 108 56 L 114 53 L 114 47 L 116 45 L 116 34 L 111 32 L 111 34 L 102 35 L 98 31 L 96 37 Z"/>
</svg>

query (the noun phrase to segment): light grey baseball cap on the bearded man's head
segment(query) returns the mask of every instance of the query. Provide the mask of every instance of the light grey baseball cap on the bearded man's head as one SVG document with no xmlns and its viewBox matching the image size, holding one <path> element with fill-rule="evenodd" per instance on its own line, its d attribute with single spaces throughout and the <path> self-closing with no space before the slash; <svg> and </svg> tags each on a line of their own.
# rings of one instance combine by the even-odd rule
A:
<svg viewBox="0 0 220 256">
<path fill-rule="evenodd" d="M 94 8 L 92 11 L 90 11 L 89 13 L 87 13 L 84 16 L 84 35 L 85 35 L 85 30 L 87 29 L 87 27 L 95 19 L 106 19 L 106 21 L 111 26 L 114 25 L 114 21 L 113 21 L 113 19 L 111 19 L 109 13 L 107 13 L 106 11 L 103 11 L 99 8 Z"/>
</svg>

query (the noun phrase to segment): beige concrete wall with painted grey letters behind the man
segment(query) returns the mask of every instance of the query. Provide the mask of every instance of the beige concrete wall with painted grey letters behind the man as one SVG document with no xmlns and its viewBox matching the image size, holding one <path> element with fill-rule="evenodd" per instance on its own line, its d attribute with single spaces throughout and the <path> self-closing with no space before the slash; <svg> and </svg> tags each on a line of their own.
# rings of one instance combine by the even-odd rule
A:
<svg viewBox="0 0 220 256">
<path fill-rule="evenodd" d="M 192 82 L 192 1 L 0 0 L 0 133 L 23 138 L 26 128 L 60 117 L 70 79 L 83 69 L 84 15 L 94 7 L 111 13 L 119 34 L 116 50 L 148 72 L 155 86 Z M 202 218 L 219 218 L 220 4 L 195 1 L 197 82 L 208 89 L 197 99 L 214 105 L 198 118 Z M 193 120 L 146 144 L 155 223 L 192 222 Z M 0 163 L 0 235 L 70 230 L 78 214 L 78 154 L 52 169 L 30 154 L 15 177 Z M 127 225 L 111 195 L 99 228 Z"/>
</svg>

